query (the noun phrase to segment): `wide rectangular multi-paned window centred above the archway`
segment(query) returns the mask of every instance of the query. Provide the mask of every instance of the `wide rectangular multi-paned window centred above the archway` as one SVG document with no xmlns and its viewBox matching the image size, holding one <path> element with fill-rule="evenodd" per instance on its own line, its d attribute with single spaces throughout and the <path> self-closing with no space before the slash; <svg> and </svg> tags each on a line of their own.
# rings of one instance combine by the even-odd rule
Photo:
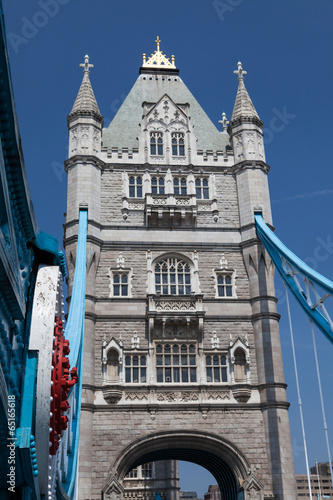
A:
<svg viewBox="0 0 333 500">
<path fill-rule="evenodd" d="M 197 381 L 195 344 L 157 344 L 156 382 Z"/>
</svg>

